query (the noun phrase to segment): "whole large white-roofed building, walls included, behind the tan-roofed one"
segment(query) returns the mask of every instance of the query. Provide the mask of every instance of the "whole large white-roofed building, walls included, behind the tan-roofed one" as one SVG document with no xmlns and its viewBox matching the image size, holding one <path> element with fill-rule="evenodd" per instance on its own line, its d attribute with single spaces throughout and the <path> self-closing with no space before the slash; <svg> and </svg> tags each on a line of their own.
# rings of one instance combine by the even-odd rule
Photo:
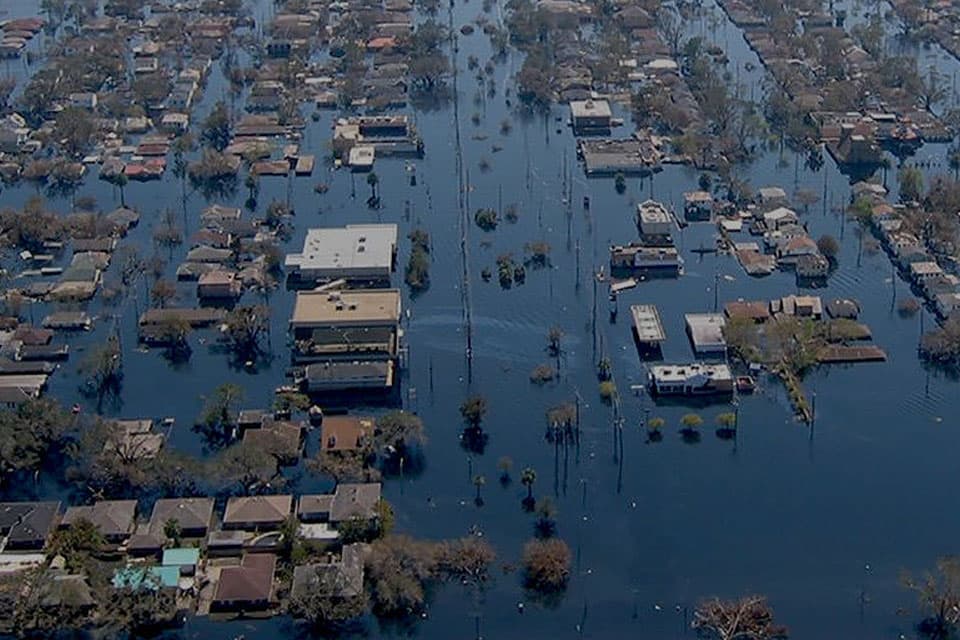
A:
<svg viewBox="0 0 960 640">
<path fill-rule="evenodd" d="M 338 229 L 310 229 L 303 251 L 284 261 L 294 280 L 389 281 L 397 255 L 397 225 L 351 224 Z"/>
</svg>

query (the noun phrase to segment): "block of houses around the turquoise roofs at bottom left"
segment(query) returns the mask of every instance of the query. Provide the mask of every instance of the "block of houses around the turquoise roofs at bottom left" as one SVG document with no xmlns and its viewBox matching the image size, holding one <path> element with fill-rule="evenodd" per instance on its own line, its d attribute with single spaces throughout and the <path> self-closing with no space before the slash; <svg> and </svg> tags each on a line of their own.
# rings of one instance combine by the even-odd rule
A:
<svg viewBox="0 0 960 640">
<path fill-rule="evenodd" d="M 138 519 L 136 500 L 106 500 L 61 512 L 59 502 L 0 503 L 0 572 L 45 564 L 42 553 L 58 530 L 89 523 L 125 558 L 113 569 L 117 589 L 175 591 L 180 606 L 196 600 L 197 613 L 269 612 L 279 604 L 276 552 L 284 541 L 276 534 L 291 518 L 300 535 L 333 541 L 344 522 L 373 522 L 379 517 L 379 484 L 341 484 L 330 494 L 230 498 L 217 520 L 212 498 L 158 500 L 149 516 Z M 339 593 L 363 589 L 361 544 L 344 545 L 337 556 L 294 567 L 294 597 L 315 588 L 324 577 L 339 578 Z M 54 560 L 56 563 L 56 560 Z M 54 580 L 69 580 L 82 596 L 73 604 L 96 602 L 87 576 L 51 568 Z"/>
</svg>

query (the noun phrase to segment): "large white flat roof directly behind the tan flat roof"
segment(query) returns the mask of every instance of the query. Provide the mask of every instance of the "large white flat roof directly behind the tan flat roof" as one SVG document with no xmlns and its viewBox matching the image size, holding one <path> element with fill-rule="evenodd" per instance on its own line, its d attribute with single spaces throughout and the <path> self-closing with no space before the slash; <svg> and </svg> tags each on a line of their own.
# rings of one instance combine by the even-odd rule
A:
<svg viewBox="0 0 960 640">
<path fill-rule="evenodd" d="M 305 271 L 390 270 L 396 246 L 395 224 L 348 224 L 336 229 L 310 229 L 303 251 L 288 254 L 284 264 L 288 269 Z"/>
</svg>

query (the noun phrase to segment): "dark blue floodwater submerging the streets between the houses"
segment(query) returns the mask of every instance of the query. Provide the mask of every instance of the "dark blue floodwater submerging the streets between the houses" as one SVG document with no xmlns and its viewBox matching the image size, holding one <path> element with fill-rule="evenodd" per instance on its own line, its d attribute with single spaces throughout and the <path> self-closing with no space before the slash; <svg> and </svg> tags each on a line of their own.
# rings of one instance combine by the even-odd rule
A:
<svg viewBox="0 0 960 640">
<path fill-rule="evenodd" d="M 31 8 L 25 3 L 10 5 L 13 15 L 28 14 Z M 479 3 L 457 3 L 453 11 L 459 26 L 481 9 Z M 731 52 L 732 64 L 756 64 L 736 27 L 722 12 L 715 15 L 717 23 L 692 28 L 719 38 Z M 692 225 L 677 235 L 686 259 L 682 278 L 644 282 L 624 293 L 615 323 L 609 320 L 601 288 L 595 340 L 591 272 L 606 262 L 609 244 L 635 237 L 636 202 L 652 196 L 679 210 L 683 192 L 696 188 L 698 173 L 667 167 L 652 182 L 629 180 L 623 195 L 615 192 L 612 179 L 585 179 L 575 164 L 572 135 L 561 122 L 566 116 L 563 108 L 555 108 L 548 118 L 524 119 L 513 117 L 505 105 L 505 88 L 519 69 L 520 58 L 512 55 L 497 66 L 496 96 L 477 103 L 475 74 L 466 71 L 466 59 L 472 53 L 482 64 L 489 56 L 487 41 L 478 31 L 460 37 L 459 44 L 459 126 L 469 176 L 466 297 L 472 305 L 472 371 L 465 356 L 452 105 L 416 115 L 426 147 L 426 157 L 414 163 L 416 186 L 410 186 L 405 161 L 377 161 L 381 209 L 367 208 L 369 188 L 362 178 L 355 180 L 326 166 L 318 166 L 313 178 L 262 179 L 260 207 L 262 211 L 273 198 L 289 198 L 296 209 L 293 238 L 285 247 L 291 251 L 299 249 L 312 226 L 395 222 L 403 236 L 415 227 L 431 235 L 430 289 L 413 300 L 404 291 L 410 357 L 402 380 L 404 405 L 423 417 L 429 442 L 422 471 L 386 482 L 397 530 L 427 538 L 479 530 L 496 547 L 500 562 L 516 563 L 532 535 L 533 518 L 521 509 L 525 490 L 519 482 L 505 488 L 497 482 L 496 462 L 510 456 L 515 478 L 523 467 L 535 468 L 535 494 L 556 501 L 559 535 L 574 549 L 575 564 L 568 591 L 550 607 L 531 602 L 516 573 L 497 570 L 481 598 L 457 585 L 446 586 L 437 592 L 424 619 L 403 628 L 380 628 L 371 622 L 369 635 L 692 637 L 687 623 L 699 599 L 745 593 L 767 595 L 778 620 L 789 625 L 796 638 L 911 635 L 916 616 L 897 612 L 914 605 L 898 585 L 900 571 L 922 570 L 938 556 L 957 551 L 960 513 L 952 504 L 954 452 L 960 445 L 954 416 L 960 400 L 956 381 L 928 372 L 917 359 L 919 317 L 903 319 L 894 311 L 896 300 L 911 295 L 908 287 L 896 278 L 882 252 L 862 250 L 854 225 L 845 224 L 837 212 L 849 198 L 847 179 L 829 157 L 820 171 L 812 172 L 803 158 L 778 151 L 742 170 L 754 187 L 779 185 L 788 193 L 804 188 L 821 195 L 803 221 L 813 237 L 830 233 L 839 238 L 842 252 L 829 287 L 816 293 L 859 300 L 861 318 L 887 351 L 888 361 L 833 366 L 809 376 L 805 387 L 816 394 L 813 428 L 795 422 L 780 387 L 762 380 L 756 395 L 741 400 L 736 442 L 715 437 L 713 420 L 730 407 L 714 405 L 697 409 L 705 420 L 703 438 L 687 444 L 677 431 L 680 416 L 689 408 L 653 407 L 648 398 L 630 390 L 642 382 L 644 371 L 631 338 L 629 305 L 656 304 L 668 334 L 665 359 L 690 361 L 682 315 L 713 309 L 716 283 L 722 305 L 736 298 L 795 293 L 793 276 L 775 273 L 757 280 L 745 276 L 730 256 L 701 259 L 693 250 L 712 246 L 715 231 L 710 225 Z M 952 60 L 937 59 L 956 67 Z M 757 71 L 747 80 L 756 83 L 760 77 L 762 72 Z M 759 86 L 755 90 L 759 97 Z M 217 65 L 195 121 L 222 96 L 226 92 Z M 471 123 L 474 113 L 480 114 L 479 126 Z M 305 151 L 327 155 L 334 117 L 324 112 L 318 122 L 309 123 L 302 142 Z M 500 122 L 509 117 L 513 129 L 502 135 Z M 502 150 L 495 152 L 494 145 Z M 928 146 L 918 158 L 931 159 L 932 174 L 946 170 L 943 153 L 943 146 Z M 482 159 L 489 170 L 481 170 Z M 569 204 L 563 200 L 565 175 L 573 182 Z M 330 191 L 316 195 L 316 182 L 329 183 Z M 895 172 L 890 182 L 894 186 Z M 28 185 L 5 189 L 0 203 L 19 206 L 33 193 Z M 139 244 L 149 256 L 152 227 L 159 224 L 164 208 L 179 208 L 178 194 L 179 185 L 169 173 L 162 182 L 131 183 L 128 204 L 143 218 L 127 242 Z M 119 203 L 118 192 L 95 177 L 77 195 L 95 196 L 106 210 Z M 590 197 L 589 211 L 581 206 L 584 196 Z M 245 197 L 241 180 L 234 196 L 210 202 L 241 206 Z M 498 207 L 500 202 L 504 208 L 518 206 L 516 224 L 502 222 L 490 233 L 472 224 L 473 209 Z M 196 229 L 206 204 L 199 193 L 188 200 L 187 236 Z M 66 199 L 51 200 L 49 205 L 63 213 L 70 208 Z M 524 243 L 531 241 L 550 243 L 550 268 L 528 270 L 526 283 L 507 291 L 495 278 L 482 281 L 481 270 L 495 271 L 498 255 L 511 252 L 521 257 Z M 403 241 L 401 270 L 408 252 L 409 243 Z M 161 254 L 169 260 L 168 275 L 184 253 L 185 248 L 178 248 Z M 398 283 L 401 278 L 402 273 Z M 194 303 L 192 286 L 179 290 L 180 304 Z M 259 301 L 258 296 L 247 295 L 246 301 Z M 99 314 L 96 330 L 74 343 L 71 360 L 52 378 L 50 392 L 65 403 L 80 402 L 86 411 L 93 410 L 77 392 L 81 379 L 76 366 L 82 345 L 102 341 L 117 322 L 123 337 L 123 392 L 105 411 L 123 417 L 174 417 L 170 445 L 200 454 L 202 443 L 189 425 L 205 394 L 223 382 L 236 382 L 246 391 L 245 406 L 261 407 L 285 382 L 285 328 L 293 305 L 286 290 L 269 298 L 275 359 L 255 371 L 231 368 L 227 356 L 214 348 L 210 332 L 191 336 L 193 356 L 183 365 L 169 364 L 159 351 L 139 350 L 136 315 L 144 302 L 140 288 L 116 311 L 94 303 L 92 309 Z M 44 309 L 38 305 L 31 313 L 39 321 Z M 115 319 L 109 317 L 114 313 Z M 929 316 L 926 324 L 932 325 Z M 565 332 L 561 379 L 535 387 L 528 375 L 548 360 L 547 332 L 552 325 Z M 597 394 L 595 363 L 603 354 L 613 363 L 623 396 L 620 432 L 614 428 L 611 409 Z M 489 443 L 483 455 L 468 454 L 458 437 L 458 406 L 471 393 L 489 401 L 484 420 Z M 572 401 L 577 393 L 583 399 L 580 446 L 555 457 L 553 445 L 544 438 L 544 412 Z M 667 421 L 660 443 L 647 443 L 638 426 L 648 409 L 650 415 Z M 617 447 L 620 438 L 622 446 Z M 310 447 L 311 452 L 314 449 Z M 473 502 L 475 474 L 488 480 L 482 507 Z M 306 472 L 289 476 L 294 491 L 325 486 Z M 39 486 L 47 495 L 60 491 L 50 482 Z M 24 495 L 30 492 L 23 489 Z M 522 614 L 518 602 L 527 603 Z M 230 624 L 194 619 L 183 633 L 283 637 L 293 635 L 294 627 L 285 619 Z"/>
</svg>

